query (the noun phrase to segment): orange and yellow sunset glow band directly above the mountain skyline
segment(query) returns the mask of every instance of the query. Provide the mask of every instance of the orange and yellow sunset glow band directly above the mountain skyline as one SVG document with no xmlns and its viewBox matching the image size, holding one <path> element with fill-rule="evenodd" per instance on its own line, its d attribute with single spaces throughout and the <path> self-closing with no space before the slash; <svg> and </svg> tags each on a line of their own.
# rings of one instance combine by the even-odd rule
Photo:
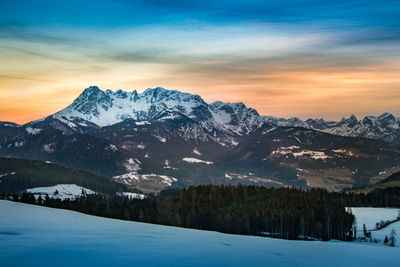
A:
<svg viewBox="0 0 400 267">
<path fill-rule="evenodd" d="M 232 82 L 212 75 L 208 79 L 205 75 L 190 74 L 178 78 L 162 70 L 147 77 L 137 73 L 131 79 L 129 69 L 68 78 L 59 75 L 49 80 L 0 77 L 0 121 L 23 124 L 46 117 L 72 103 L 90 85 L 103 90 L 121 88 L 139 92 L 162 86 L 199 94 L 206 102 L 244 102 L 261 115 L 285 118 L 337 120 L 350 114 L 361 117 L 383 112 L 398 116 L 400 71 L 394 66 L 392 63 L 387 68 L 337 73 L 316 70 L 258 73 L 255 77 L 237 77 Z"/>
</svg>

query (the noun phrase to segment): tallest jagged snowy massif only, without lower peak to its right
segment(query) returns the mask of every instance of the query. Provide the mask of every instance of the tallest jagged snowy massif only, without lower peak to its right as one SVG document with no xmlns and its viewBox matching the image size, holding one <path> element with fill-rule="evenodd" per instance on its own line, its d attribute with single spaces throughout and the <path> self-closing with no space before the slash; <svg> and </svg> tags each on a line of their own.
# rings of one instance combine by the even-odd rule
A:
<svg viewBox="0 0 400 267">
<path fill-rule="evenodd" d="M 113 92 L 102 91 L 96 86 L 85 89 L 70 106 L 53 116 L 80 126 L 87 126 L 85 121 L 88 121 L 104 127 L 126 119 L 150 121 L 165 111 L 181 113 L 193 119 L 211 117 L 207 104 L 197 95 L 163 88 L 147 89 L 142 94 L 122 90 Z"/>
</svg>

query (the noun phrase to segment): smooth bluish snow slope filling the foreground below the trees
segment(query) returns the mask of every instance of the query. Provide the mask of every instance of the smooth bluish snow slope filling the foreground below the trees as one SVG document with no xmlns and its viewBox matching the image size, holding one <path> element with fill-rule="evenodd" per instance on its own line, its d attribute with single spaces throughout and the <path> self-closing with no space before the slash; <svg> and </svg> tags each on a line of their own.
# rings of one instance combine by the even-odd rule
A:
<svg viewBox="0 0 400 267">
<path fill-rule="evenodd" d="M 398 266 L 398 248 L 228 235 L 0 200 L 2 266 Z"/>
</svg>

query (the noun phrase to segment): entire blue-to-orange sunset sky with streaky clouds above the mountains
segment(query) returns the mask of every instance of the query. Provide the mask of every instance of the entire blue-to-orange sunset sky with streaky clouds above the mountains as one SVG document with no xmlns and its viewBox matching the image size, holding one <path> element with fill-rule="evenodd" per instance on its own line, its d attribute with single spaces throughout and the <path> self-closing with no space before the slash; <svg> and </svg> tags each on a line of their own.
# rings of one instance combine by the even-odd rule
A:
<svg viewBox="0 0 400 267">
<path fill-rule="evenodd" d="M 149 87 L 262 115 L 400 116 L 400 1 L 0 0 L 0 121 Z"/>
</svg>

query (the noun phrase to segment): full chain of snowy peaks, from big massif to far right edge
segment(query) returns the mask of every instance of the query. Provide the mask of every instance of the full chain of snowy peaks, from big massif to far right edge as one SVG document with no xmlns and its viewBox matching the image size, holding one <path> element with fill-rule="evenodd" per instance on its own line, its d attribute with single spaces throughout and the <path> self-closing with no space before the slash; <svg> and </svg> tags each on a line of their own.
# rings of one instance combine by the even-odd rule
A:
<svg viewBox="0 0 400 267">
<path fill-rule="evenodd" d="M 50 125 L 64 132 L 85 133 L 128 119 L 138 125 L 155 121 L 191 121 L 192 124 L 196 124 L 194 127 L 180 128 L 186 137 L 213 139 L 223 145 L 237 143 L 241 136 L 254 132 L 264 123 L 400 144 L 400 118 L 390 113 L 367 116 L 362 120 L 352 115 L 338 122 L 323 119 L 283 119 L 260 116 L 256 110 L 246 107 L 243 103 L 216 101 L 208 104 L 198 95 L 161 87 L 149 88 L 143 93 L 138 93 L 136 90 L 103 91 L 97 86 L 91 86 L 65 109 L 29 125 Z"/>
</svg>

